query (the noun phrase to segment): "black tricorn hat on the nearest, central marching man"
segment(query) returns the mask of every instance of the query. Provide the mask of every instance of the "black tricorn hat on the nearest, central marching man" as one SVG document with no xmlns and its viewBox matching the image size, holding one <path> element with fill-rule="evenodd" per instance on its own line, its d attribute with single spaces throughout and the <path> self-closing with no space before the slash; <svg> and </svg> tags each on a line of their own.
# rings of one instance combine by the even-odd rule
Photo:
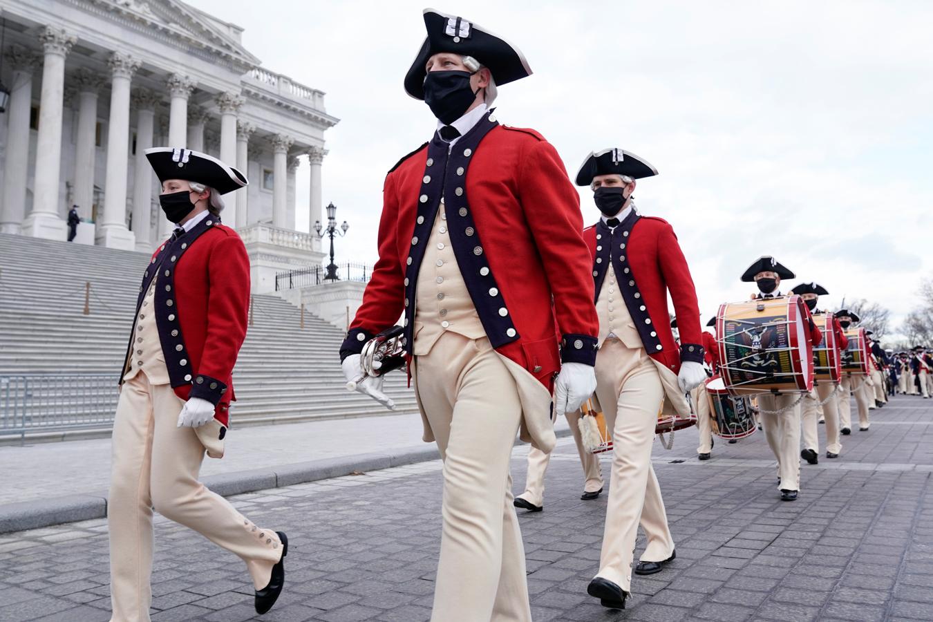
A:
<svg viewBox="0 0 933 622">
<path fill-rule="evenodd" d="M 472 56 L 489 69 L 496 86 L 531 76 L 522 50 L 472 21 L 425 8 L 425 29 L 425 43 L 405 75 L 405 92 L 416 100 L 425 99 L 427 60 L 441 52 Z"/>
</svg>

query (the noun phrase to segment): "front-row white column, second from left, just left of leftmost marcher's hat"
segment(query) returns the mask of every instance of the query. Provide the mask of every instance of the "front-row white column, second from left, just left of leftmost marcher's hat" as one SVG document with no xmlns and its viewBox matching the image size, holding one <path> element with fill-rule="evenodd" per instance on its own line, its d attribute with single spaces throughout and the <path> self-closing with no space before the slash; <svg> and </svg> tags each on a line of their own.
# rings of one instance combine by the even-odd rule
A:
<svg viewBox="0 0 933 622">
<path fill-rule="evenodd" d="M 130 158 L 130 83 L 139 61 L 128 54 L 110 55 L 110 120 L 107 123 L 107 171 L 104 222 L 94 231 L 98 246 L 132 251 L 136 242 L 126 226 L 126 186 Z"/>
</svg>

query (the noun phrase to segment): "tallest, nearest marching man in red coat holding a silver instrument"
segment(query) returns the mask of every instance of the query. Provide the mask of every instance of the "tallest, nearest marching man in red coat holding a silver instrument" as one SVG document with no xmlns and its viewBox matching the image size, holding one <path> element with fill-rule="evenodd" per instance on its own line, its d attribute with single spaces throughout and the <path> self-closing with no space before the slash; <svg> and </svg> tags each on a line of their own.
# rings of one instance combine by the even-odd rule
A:
<svg viewBox="0 0 933 622">
<path fill-rule="evenodd" d="M 498 86 L 531 74 L 522 52 L 460 17 L 424 20 L 404 86 L 437 131 L 385 177 L 380 257 L 341 362 L 358 380 L 363 345 L 404 313 L 425 441 L 444 461 L 432 619 L 527 621 L 511 450 L 521 430 L 550 452 L 552 409 L 573 412 L 595 388 L 590 258 L 557 151 L 490 107 Z M 390 406 L 378 380 L 356 389 Z"/>
</svg>

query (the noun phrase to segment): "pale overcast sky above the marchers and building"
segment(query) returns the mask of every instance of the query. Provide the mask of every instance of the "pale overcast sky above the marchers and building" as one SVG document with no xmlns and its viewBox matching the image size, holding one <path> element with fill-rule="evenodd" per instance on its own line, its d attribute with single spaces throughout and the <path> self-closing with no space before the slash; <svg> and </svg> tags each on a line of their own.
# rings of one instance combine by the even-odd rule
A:
<svg viewBox="0 0 933 622">
<path fill-rule="evenodd" d="M 374 261 L 384 174 L 436 123 L 402 89 L 425 4 L 189 2 L 243 26 L 268 69 L 327 92 L 341 122 L 326 134 L 324 202 L 350 223 L 337 255 Z M 496 117 L 543 133 L 571 175 L 608 146 L 655 165 L 635 200 L 674 226 L 704 321 L 751 294 L 739 275 L 761 255 L 829 289 L 824 308 L 865 297 L 897 326 L 917 304 L 933 275 L 933 3 L 434 7 L 522 49 L 534 75 L 499 89 Z M 302 166 L 304 229 L 307 174 Z M 589 189 L 581 206 L 594 222 Z"/>
</svg>

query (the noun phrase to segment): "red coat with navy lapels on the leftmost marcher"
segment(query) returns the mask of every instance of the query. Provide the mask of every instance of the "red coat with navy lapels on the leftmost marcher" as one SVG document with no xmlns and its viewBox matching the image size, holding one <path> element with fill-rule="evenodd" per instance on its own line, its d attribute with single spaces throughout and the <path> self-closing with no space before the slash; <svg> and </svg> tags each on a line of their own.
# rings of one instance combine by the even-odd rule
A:
<svg viewBox="0 0 933 622">
<path fill-rule="evenodd" d="M 235 399 L 231 376 L 249 313 L 243 241 L 213 215 L 178 240 L 166 241 L 146 269 L 137 314 L 157 274 L 154 312 L 174 393 L 185 400 L 206 399 L 216 406 L 215 419 L 229 425 Z"/>
</svg>

